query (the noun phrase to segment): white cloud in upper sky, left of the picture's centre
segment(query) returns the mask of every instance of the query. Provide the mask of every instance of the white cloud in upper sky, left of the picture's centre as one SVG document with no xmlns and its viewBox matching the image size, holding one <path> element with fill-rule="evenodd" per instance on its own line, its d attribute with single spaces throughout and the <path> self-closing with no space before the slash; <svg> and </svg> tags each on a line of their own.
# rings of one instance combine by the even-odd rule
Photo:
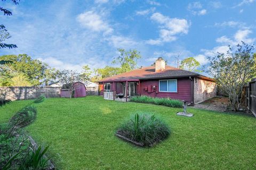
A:
<svg viewBox="0 0 256 170">
<path fill-rule="evenodd" d="M 94 11 L 87 11 L 77 16 L 77 21 L 85 28 L 105 34 L 113 32 L 110 25 L 103 21 L 102 17 Z"/>
</svg>

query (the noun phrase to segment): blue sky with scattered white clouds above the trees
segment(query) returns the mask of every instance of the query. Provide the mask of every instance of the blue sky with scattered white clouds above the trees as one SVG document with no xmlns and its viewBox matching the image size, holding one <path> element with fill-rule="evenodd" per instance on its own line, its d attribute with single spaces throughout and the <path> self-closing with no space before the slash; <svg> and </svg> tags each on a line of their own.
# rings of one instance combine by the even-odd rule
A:
<svg viewBox="0 0 256 170">
<path fill-rule="evenodd" d="M 58 69 L 81 70 L 111 65 L 117 48 L 137 49 L 138 65 L 164 57 L 225 52 L 241 40 L 256 41 L 256 1 L 25 1 L 0 2 L 13 12 L 0 15 L 12 35 L 0 55 L 28 54 Z"/>
</svg>

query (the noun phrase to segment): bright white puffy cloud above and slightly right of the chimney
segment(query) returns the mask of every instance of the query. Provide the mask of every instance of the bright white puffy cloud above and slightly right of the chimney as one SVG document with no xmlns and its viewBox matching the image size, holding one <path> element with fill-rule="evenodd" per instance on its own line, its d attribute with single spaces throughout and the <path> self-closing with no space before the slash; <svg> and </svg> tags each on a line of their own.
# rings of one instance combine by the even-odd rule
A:
<svg viewBox="0 0 256 170">
<path fill-rule="evenodd" d="M 148 40 L 148 44 L 161 44 L 160 41 L 170 42 L 177 39 L 178 34 L 188 33 L 190 24 L 185 19 L 169 18 L 161 13 L 154 13 L 150 17 L 151 20 L 161 24 L 159 26 L 159 37 L 160 39 Z"/>
</svg>

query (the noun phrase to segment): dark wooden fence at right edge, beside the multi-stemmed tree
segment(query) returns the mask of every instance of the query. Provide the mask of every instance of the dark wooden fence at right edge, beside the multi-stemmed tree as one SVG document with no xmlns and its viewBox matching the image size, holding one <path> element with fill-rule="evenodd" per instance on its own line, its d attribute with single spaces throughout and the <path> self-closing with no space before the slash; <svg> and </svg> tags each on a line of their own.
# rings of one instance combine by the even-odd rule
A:
<svg viewBox="0 0 256 170">
<path fill-rule="evenodd" d="M 247 108 L 256 117 L 256 78 L 247 84 L 246 88 L 246 99 L 245 103 Z"/>
</svg>

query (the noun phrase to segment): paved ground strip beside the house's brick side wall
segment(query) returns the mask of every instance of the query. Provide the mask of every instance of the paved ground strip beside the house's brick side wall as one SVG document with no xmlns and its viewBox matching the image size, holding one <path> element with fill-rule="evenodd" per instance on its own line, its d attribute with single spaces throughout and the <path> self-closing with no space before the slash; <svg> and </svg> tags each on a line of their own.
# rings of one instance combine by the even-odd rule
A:
<svg viewBox="0 0 256 170">
<path fill-rule="evenodd" d="M 209 100 L 205 100 L 202 103 L 191 106 L 194 108 L 203 108 L 210 111 L 225 112 L 227 110 L 229 101 L 226 97 L 214 97 Z"/>
</svg>

